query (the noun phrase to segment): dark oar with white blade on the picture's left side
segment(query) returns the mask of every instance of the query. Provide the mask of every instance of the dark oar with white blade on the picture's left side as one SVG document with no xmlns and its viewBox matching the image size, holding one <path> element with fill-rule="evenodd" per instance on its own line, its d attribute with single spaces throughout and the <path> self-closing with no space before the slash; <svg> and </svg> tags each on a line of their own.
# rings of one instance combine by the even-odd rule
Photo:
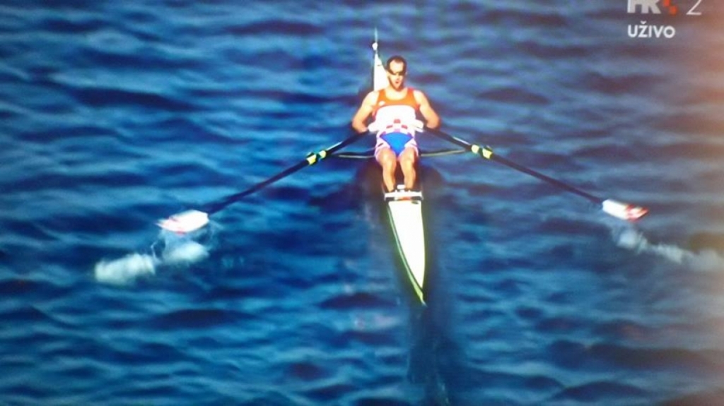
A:
<svg viewBox="0 0 724 406">
<path fill-rule="evenodd" d="M 171 217 L 168 217 L 164 220 L 159 220 L 159 222 L 156 224 L 158 224 L 161 228 L 173 231 L 175 233 L 190 233 L 191 231 L 198 230 L 199 228 L 202 228 L 204 225 L 209 223 L 210 215 L 219 212 L 220 210 L 224 209 L 224 207 L 227 207 L 234 202 L 238 202 L 240 199 L 243 199 L 245 196 L 248 196 L 255 191 L 271 185 L 271 183 L 290 176 L 292 173 L 295 173 L 300 169 L 318 163 L 324 158 L 329 157 L 329 155 L 332 155 L 333 152 L 341 150 L 343 147 L 352 144 L 364 135 L 365 133 L 353 134 L 347 139 L 344 139 L 341 142 L 337 142 L 337 144 L 334 144 L 325 150 L 321 150 L 319 152 L 310 152 L 306 158 L 301 160 L 296 165 L 290 166 L 290 168 L 282 170 L 276 175 L 271 176 L 271 178 L 266 179 L 266 181 L 256 183 L 248 189 L 245 189 L 235 194 L 231 194 L 229 196 L 222 197 L 221 199 L 218 199 L 214 202 L 203 204 L 196 210 L 187 210 L 185 212 L 180 212 L 176 215 L 172 215 Z"/>
</svg>

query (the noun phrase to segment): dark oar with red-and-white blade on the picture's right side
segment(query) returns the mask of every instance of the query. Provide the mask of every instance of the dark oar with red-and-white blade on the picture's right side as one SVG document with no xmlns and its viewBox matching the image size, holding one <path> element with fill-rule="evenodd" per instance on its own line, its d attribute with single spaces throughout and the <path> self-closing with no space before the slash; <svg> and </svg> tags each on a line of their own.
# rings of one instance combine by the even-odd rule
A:
<svg viewBox="0 0 724 406">
<path fill-rule="evenodd" d="M 594 196 L 586 191 L 582 191 L 581 189 L 573 187 L 573 186 L 569 185 L 568 183 L 563 183 L 562 181 L 558 181 L 557 179 L 551 178 L 550 176 L 544 175 L 536 170 L 532 170 L 531 168 L 526 168 L 525 166 L 520 165 L 518 163 L 514 163 L 513 161 L 511 161 L 505 157 L 501 157 L 500 155 L 494 154 L 493 151 L 490 149 L 490 147 L 481 147 L 476 144 L 471 144 L 470 142 L 464 141 L 463 139 L 459 139 L 458 137 L 452 137 L 452 135 L 450 135 L 450 134 L 445 134 L 444 132 L 442 132 L 438 129 L 430 129 L 430 128 L 425 128 L 425 129 L 426 129 L 426 131 L 429 131 L 430 133 L 434 134 L 435 136 L 437 136 L 439 138 L 445 139 L 446 141 L 452 142 L 453 144 L 457 144 L 457 145 L 460 145 L 460 147 L 466 148 L 466 150 L 473 152 L 473 154 L 475 154 L 475 155 L 484 157 L 487 160 L 494 160 L 497 163 L 502 163 L 503 165 L 506 165 L 510 168 L 519 170 L 523 173 L 529 174 L 530 176 L 539 178 L 542 181 L 546 181 L 555 186 L 558 186 L 560 189 L 563 189 L 565 191 L 570 191 L 573 194 L 577 194 L 578 196 L 582 196 L 586 199 L 589 199 L 591 202 L 600 204 L 601 209 L 604 212 L 606 212 L 607 214 L 612 215 L 613 217 L 617 217 L 622 220 L 635 221 L 635 220 L 639 220 L 641 217 L 644 217 L 644 215 L 646 215 L 649 212 L 649 209 L 647 209 L 646 207 L 618 202 L 613 199 L 601 199 L 598 196 Z"/>
</svg>

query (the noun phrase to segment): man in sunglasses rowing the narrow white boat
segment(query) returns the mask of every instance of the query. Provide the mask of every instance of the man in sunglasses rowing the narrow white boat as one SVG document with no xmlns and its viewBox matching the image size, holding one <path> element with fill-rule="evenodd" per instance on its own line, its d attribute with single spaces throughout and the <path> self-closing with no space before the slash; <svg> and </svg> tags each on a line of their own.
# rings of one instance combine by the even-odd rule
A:
<svg viewBox="0 0 724 406">
<path fill-rule="evenodd" d="M 382 166 L 382 181 L 387 191 L 395 190 L 395 171 L 399 163 L 405 178 L 405 189 L 412 190 L 416 182 L 416 164 L 419 156 L 415 132 L 422 122 L 418 113 L 432 129 L 439 127 L 440 118 L 420 90 L 405 87 L 407 61 L 402 56 L 392 56 L 385 64 L 387 80 L 382 90 L 370 92 L 362 101 L 352 119 L 355 131 L 376 132 L 374 157 Z M 372 116 L 374 122 L 367 126 Z"/>
</svg>

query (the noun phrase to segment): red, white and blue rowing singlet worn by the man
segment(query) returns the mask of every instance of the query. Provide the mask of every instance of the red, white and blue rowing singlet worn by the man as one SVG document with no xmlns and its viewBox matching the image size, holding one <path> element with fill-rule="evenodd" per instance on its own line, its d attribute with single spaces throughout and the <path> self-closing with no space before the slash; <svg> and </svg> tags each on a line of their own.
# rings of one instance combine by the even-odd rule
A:
<svg viewBox="0 0 724 406">
<path fill-rule="evenodd" d="M 416 120 L 419 108 L 412 87 L 408 87 L 405 97 L 398 100 L 387 98 L 384 89 L 379 91 L 372 111 L 375 122 L 381 124 L 377 133 L 375 155 L 382 147 L 387 146 L 392 148 L 396 155 L 400 155 L 406 147 L 417 150 L 415 129 L 411 123 Z"/>
</svg>

